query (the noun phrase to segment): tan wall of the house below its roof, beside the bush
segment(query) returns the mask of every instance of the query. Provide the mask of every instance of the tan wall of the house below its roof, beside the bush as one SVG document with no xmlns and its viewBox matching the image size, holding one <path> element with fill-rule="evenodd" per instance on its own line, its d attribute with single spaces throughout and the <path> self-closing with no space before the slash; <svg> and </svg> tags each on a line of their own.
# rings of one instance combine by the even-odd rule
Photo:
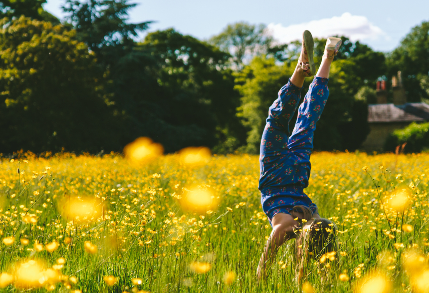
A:
<svg viewBox="0 0 429 293">
<path fill-rule="evenodd" d="M 370 123 L 369 134 L 362 143 L 361 149 L 366 152 L 382 151 L 387 136 L 396 129 L 404 128 L 410 122 Z"/>
</svg>

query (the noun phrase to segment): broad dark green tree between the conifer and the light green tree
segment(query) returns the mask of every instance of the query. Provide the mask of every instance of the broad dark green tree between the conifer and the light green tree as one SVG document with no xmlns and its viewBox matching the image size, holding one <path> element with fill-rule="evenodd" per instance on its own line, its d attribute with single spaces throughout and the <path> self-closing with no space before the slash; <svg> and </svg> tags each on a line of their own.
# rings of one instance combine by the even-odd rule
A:
<svg viewBox="0 0 429 293">
<path fill-rule="evenodd" d="M 229 54 L 173 29 L 149 33 L 138 50 L 155 63 L 148 67 L 150 77 L 141 80 L 147 86 L 125 93 L 135 105 L 127 110 L 135 126 L 147 126 L 134 127 L 135 134 L 157 139 L 166 151 L 191 145 L 222 152 L 237 148 L 244 131 L 236 118 L 234 77 L 226 69 Z"/>
</svg>

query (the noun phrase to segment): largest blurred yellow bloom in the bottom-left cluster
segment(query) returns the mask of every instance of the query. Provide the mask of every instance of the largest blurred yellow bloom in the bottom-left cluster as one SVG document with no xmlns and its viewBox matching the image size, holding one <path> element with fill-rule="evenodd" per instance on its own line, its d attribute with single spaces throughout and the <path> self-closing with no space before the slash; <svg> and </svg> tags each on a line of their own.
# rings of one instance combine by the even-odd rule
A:
<svg viewBox="0 0 429 293">
<path fill-rule="evenodd" d="M 34 259 L 20 263 L 15 269 L 14 277 L 15 287 L 18 289 L 39 288 L 45 282 L 43 265 Z"/>
</svg>

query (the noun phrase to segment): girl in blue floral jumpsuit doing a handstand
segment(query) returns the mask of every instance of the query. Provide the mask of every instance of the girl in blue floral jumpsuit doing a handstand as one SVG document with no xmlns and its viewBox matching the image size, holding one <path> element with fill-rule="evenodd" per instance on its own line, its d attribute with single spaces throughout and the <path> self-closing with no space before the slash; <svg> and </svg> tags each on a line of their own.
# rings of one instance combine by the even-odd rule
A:
<svg viewBox="0 0 429 293">
<path fill-rule="evenodd" d="M 341 39 L 328 38 L 322 63 L 298 109 L 292 134 L 289 132 L 289 122 L 298 107 L 304 79 L 313 76 L 316 71 L 313 46 L 310 32 L 305 31 L 298 64 L 289 82 L 280 89 L 277 100 L 271 105 L 262 134 L 259 189 L 262 208 L 273 230 L 259 261 L 258 278 L 265 274 L 278 247 L 296 238 L 299 230 L 302 232 L 298 233 L 297 242 L 308 240 L 309 244 L 303 247 L 306 251 L 297 251 L 297 258 L 302 259 L 306 252 L 312 250 L 330 250 L 332 245 L 332 241 L 326 241 L 329 238 L 326 231 L 331 229 L 332 233 L 334 228 L 332 224 L 329 226 L 329 220 L 320 217 L 317 206 L 304 193 L 304 188 L 308 186 L 310 176 L 313 133 L 328 99 L 330 66 L 341 46 Z M 302 223 L 305 223 L 305 227 L 301 226 Z M 301 259 L 298 259 L 298 266 Z M 301 270 L 297 270 L 298 279 Z"/>
</svg>

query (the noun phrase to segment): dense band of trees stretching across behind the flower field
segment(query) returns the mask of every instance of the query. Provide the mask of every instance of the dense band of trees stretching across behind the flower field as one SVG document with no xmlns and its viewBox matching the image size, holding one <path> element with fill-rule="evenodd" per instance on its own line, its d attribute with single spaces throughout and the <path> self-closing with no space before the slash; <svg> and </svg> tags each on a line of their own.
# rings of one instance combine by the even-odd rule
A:
<svg viewBox="0 0 429 293">
<path fill-rule="evenodd" d="M 63 23 L 43 3 L 0 1 L 1 153 L 120 151 L 140 136 L 167 152 L 259 151 L 299 41 L 278 45 L 264 25 L 236 23 L 208 41 L 168 29 L 137 42 L 151 23 L 130 24 L 127 0 L 66 0 Z M 423 22 L 388 54 L 342 37 L 316 149 L 359 147 L 377 79 L 401 70 L 409 101 L 428 98 L 428 32 Z M 317 63 L 326 40 L 315 41 Z"/>
</svg>

